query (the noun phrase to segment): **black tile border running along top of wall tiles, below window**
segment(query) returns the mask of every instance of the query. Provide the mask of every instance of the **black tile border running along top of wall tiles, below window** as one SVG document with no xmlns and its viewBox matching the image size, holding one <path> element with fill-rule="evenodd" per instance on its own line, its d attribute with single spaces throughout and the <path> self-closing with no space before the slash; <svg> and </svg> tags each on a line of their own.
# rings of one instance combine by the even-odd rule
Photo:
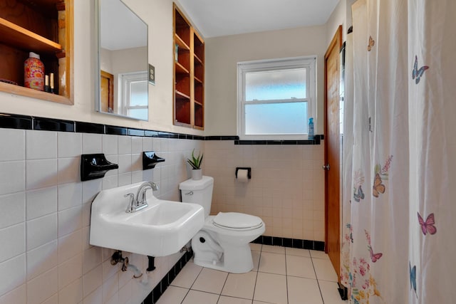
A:
<svg viewBox="0 0 456 304">
<path fill-rule="evenodd" d="M 234 145 L 320 145 L 323 135 L 315 135 L 314 140 L 239 140 L 239 136 L 201 136 L 175 132 L 143 130 L 114 125 L 101 125 L 93 122 L 78 122 L 56 118 L 34 117 L 0 112 L 0 128 L 23 130 L 46 130 L 57 132 L 78 132 L 107 135 L 129 135 L 140 137 L 175 138 L 180 140 L 233 140 Z"/>
</svg>

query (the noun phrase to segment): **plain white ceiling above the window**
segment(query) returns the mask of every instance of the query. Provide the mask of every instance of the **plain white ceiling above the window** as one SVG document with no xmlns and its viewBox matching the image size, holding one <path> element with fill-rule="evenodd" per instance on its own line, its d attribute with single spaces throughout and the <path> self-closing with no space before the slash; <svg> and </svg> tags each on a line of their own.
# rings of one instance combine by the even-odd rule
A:
<svg viewBox="0 0 456 304">
<path fill-rule="evenodd" d="M 326 23 L 339 0 L 179 0 L 204 38 Z"/>
</svg>

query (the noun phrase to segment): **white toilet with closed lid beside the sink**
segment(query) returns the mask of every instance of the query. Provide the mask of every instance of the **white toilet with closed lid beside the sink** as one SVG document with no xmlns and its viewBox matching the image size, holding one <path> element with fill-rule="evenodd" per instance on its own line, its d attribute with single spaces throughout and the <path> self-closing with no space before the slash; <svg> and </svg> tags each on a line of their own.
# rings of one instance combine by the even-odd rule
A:
<svg viewBox="0 0 456 304">
<path fill-rule="evenodd" d="M 214 179 L 187 179 L 179 184 L 182 202 L 200 204 L 205 223 L 192 239 L 193 262 L 199 266 L 247 273 L 254 268 L 249 243 L 264 233 L 264 222 L 258 216 L 237 212 L 219 212 L 209 216 Z"/>
</svg>

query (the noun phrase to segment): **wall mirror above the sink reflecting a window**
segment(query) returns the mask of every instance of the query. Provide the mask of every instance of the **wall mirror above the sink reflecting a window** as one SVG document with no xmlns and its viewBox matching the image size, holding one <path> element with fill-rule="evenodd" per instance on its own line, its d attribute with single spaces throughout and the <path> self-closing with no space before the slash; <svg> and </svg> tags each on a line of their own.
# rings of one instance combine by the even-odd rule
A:
<svg viewBox="0 0 456 304">
<path fill-rule="evenodd" d="M 95 0 L 95 36 L 95 110 L 147 120 L 147 24 L 122 0 Z"/>
</svg>

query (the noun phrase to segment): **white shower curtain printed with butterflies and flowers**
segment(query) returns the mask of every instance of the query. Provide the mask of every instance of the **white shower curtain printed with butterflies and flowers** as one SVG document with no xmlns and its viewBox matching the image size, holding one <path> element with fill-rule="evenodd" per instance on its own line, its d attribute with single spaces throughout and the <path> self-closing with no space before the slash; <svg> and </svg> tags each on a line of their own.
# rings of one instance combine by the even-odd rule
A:
<svg viewBox="0 0 456 304">
<path fill-rule="evenodd" d="M 352 16 L 341 283 L 349 303 L 456 303 L 456 1 Z"/>
</svg>

